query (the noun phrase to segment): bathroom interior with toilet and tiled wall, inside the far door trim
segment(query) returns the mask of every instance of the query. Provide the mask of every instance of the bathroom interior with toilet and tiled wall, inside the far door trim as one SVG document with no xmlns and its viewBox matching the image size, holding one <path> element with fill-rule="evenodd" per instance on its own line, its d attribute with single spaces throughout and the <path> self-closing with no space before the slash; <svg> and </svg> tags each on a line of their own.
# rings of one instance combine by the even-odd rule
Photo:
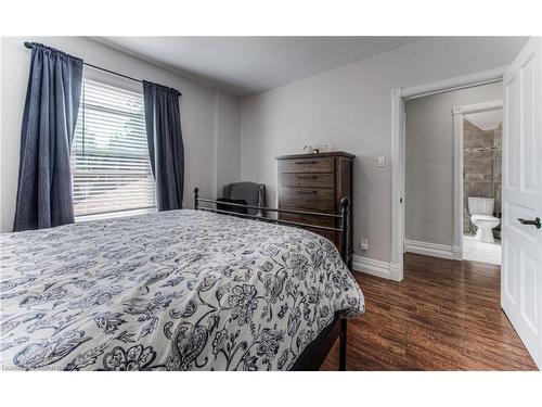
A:
<svg viewBox="0 0 542 407">
<path fill-rule="evenodd" d="M 501 259 L 502 109 L 463 116 L 463 258 Z"/>
</svg>

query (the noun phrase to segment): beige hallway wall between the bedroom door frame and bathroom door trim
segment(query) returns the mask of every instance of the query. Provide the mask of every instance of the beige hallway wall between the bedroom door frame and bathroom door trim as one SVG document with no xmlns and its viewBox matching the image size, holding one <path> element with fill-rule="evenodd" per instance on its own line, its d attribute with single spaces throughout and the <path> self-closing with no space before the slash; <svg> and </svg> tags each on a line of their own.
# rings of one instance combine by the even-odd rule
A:
<svg viewBox="0 0 542 407">
<path fill-rule="evenodd" d="M 501 99 L 495 82 L 406 101 L 406 239 L 453 245 L 452 109 Z"/>
</svg>

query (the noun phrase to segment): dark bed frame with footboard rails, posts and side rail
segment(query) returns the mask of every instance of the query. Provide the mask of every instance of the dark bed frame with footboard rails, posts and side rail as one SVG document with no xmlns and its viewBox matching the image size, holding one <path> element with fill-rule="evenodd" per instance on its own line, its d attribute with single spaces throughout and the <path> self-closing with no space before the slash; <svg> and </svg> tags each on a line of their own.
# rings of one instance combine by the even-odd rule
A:
<svg viewBox="0 0 542 407">
<path fill-rule="evenodd" d="M 224 214 L 224 215 L 246 217 L 246 218 L 250 218 L 254 220 L 268 221 L 268 222 L 272 222 L 272 224 L 297 226 L 297 227 L 301 227 L 301 228 L 313 228 L 313 229 L 340 232 L 341 237 L 343 237 L 343 242 L 345 242 L 345 244 L 341 245 L 340 256 L 348 267 L 348 260 L 349 260 L 349 258 L 348 258 L 349 257 L 349 254 L 348 254 L 348 230 L 349 230 L 348 212 L 349 212 L 349 206 L 350 206 L 350 202 L 349 202 L 348 198 L 345 196 L 340 200 L 340 214 L 324 214 L 324 213 L 320 213 L 320 212 L 278 209 L 278 208 L 273 208 L 273 207 L 260 207 L 260 206 L 243 205 L 243 204 L 237 204 L 237 203 L 232 203 L 232 202 L 208 200 L 208 199 L 199 198 L 198 192 L 199 192 L 199 190 L 197 188 L 194 188 L 194 209 L 196 209 L 196 211 L 208 211 L 208 212 L 215 212 L 215 213 Z M 215 205 L 215 207 L 201 206 L 199 205 L 201 203 L 211 204 L 211 205 Z M 266 216 L 248 215 L 248 214 L 243 214 L 243 213 L 237 213 L 237 212 L 218 209 L 216 206 L 217 204 L 223 205 L 223 206 L 244 207 L 247 209 L 258 209 L 258 211 L 262 211 L 263 213 L 275 212 L 275 213 L 287 213 L 287 214 L 320 216 L 320 217 L 340 219 L 340 228 L 332 228 L 332 227 L 326 227 L 326 226 L 301 224 L 301 222 L 289 221 L 289 220 L 272 219 L 272 218 L 269 218 Z M 296 363 L 294 364 L 294 366 L 292 367 L 291 370 L 298 370 L 298 371 L 299 370 L 318 370 L 320 368 L 320 366 L 322 366 L 325 357 L 330 353 L 330 351 L 333 347 L 337 338 L 339 338 L 339 364 L 338 364 L 339 370 L 346 370 L 346 343 L 347 343 L 346 334 L 347 334 L 347 320 L 344 318 L 339 318 L 338 313 L 336 313 L 334 318 L 333 318 L 333 321 L 326 328 L 324 328 L 323 331 L 320 332 L 320 334 L 314 339 L 314 341 L 312 341 L 305 348 L 305 351 L 299 355 L 298 359 L 296 360 Z"/>
</svg>

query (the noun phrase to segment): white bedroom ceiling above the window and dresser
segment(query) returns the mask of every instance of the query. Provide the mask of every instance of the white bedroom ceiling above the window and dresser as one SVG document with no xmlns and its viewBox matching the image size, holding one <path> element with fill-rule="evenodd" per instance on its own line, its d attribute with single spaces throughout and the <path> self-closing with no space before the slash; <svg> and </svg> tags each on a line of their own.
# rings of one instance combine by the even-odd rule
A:
<svg viewBox="0 0 542 407">
<path fill-rule="evenodd" d="M 276 88 L 421 37 L 96 37 L 236 96 Z"/>
</svg>

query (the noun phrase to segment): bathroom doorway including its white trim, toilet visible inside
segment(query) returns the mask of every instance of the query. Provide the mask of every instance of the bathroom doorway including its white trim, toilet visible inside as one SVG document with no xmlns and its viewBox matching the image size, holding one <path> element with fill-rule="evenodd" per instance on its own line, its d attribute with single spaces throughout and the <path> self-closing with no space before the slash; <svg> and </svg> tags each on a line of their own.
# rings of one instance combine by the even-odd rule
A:
<svg viewBox="0 0 542 407">
<path fill-rule="evenodd" d="M 453 109 L 460 258 L 501 264 L 502 100 Z"/>
</svg>

